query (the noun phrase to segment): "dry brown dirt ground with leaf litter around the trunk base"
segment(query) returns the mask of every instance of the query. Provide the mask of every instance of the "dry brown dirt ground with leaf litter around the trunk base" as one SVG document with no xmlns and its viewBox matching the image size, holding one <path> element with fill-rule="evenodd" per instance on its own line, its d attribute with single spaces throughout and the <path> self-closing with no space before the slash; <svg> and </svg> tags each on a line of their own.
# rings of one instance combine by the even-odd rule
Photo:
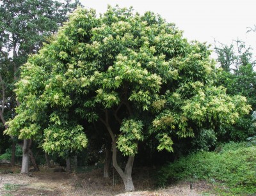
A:
<svg viewBox="0 0 256 196">
<path fill-rule="evenodd" d="M 109 179 L 102 177 L 102 170 L 95 169 L 86 173 L 67 174 L 56 173 L 53 169 L 42 168 L 40 172 L 19 174 L 19 167 L 0 167 L 0 195 L 202 195 L 209 192 L 211 185 L 204 181 L 193 183 L 192 192 L 188 182 L 166 188 L 156 189 L 155 182 L 150 177 L 150 169 L 134 170 L 134 186 L 137 192 L 124 193 L 124 185 L 115 174 Z M 13 172 L 13 173 L 10 173 Z M 114 177 L 113 177 L 114 176 Z M 207 194 L 210 195 L 210 194 Z"/>
</svg>

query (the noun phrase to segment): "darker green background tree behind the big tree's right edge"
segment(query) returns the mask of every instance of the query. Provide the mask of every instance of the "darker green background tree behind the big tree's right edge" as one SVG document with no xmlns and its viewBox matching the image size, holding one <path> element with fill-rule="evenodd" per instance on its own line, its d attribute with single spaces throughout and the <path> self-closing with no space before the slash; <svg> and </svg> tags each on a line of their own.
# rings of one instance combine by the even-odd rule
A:
<svg viewBox="0 0 256 196">
<path fill-rule="evenodd" d="M 223 72 L 219 72 L 217 83 L 225 86 L 228 94 L 245 96 L 252 105 L 250 114 L 239 118 L 236 125 L 221 128 L 221 140 L 245 140 L 256 133 L 255 127 L 252 126 L 252 112 L 256 110 L 256 72 L 251 51 L 252 49 L 246 47 L 241 40 L 237 40 L 236 45 L 221 44 L 215 47 L 217 61 L 223 68 Z"/>
</svg>

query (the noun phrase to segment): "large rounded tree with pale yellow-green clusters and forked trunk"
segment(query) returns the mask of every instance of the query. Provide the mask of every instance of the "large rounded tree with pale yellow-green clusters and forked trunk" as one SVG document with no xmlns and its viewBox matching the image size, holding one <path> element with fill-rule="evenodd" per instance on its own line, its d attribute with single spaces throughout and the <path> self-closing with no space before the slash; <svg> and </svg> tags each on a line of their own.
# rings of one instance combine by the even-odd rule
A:
<svg viewBox="0 0 256 196">
<path fill-rule="evenodd" d="M 113 167 L 132 191 L 142 140 L 154 136 L 159 151 L 172 151 L 173 135 L 193 137 L 193 128 L 235 123 L 250 110 L 243 96 L 212 86 L 209 54 L 204 43 L 188 43 L 154 13 L 109 6 L 96 17 L 79 8 L 22 66 L 15 90 L 21 104 L 7 133 L 40 137 L 46 152 L 63 154 L 85 147 L 88 124 L 102 123 Z M 127 157 L 124 169 L 118 150 Z"/>
</svg>

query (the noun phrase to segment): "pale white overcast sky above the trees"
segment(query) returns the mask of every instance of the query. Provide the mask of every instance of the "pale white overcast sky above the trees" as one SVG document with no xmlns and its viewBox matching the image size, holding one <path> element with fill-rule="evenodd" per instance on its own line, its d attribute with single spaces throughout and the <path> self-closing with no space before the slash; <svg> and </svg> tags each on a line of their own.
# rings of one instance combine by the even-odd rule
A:
<svg viewBox="0 0 256 196">
<path fill-rule="evenodd" d="M 256 58 L 256 32 L 246 33 L 256 25 L 255 0 L 81 0 L 85 8 L 104 13 L 108 4 L 129 8 L 143 14 L 159 13 L 184 31 L 184 37 L 214 45 L 214 40 L 230 45 L 232 40 L 246 41 Z"/>
</svg>

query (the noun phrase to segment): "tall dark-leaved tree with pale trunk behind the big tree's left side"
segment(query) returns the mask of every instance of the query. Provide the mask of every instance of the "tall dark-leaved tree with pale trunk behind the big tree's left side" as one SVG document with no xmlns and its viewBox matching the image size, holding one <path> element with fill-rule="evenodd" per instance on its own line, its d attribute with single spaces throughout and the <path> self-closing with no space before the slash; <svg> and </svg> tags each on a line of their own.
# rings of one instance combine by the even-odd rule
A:
<svg viewBox="0 0 256 196">
<path fill-rule="evenodd" d="M 47 36 L 55 33 L 67 20 L 67 13 L 76 8 L 78 1 L 31 1 L 8 0 L 0 2 L 0 82 L 1 82 L 1 121 L 14 116 L 15 102 L 13 82 L 19 79 L 19 67 L 29 54 L 38 51 Z M 6 109 L 12 111 L 7 116 Z M 9 110 L 9 111 L 10 111 Z M 4 125 L 7 128 L 7 125 Z M 28 145 L 26 145 L 28 144 Z M 24 157 L 21 172 L 28 172 L 29 141 L 24 140 Z M 15 149 L 15 147 L 14 147 Z M 32 153 L 30 153 L 33 156 Z"/>
</svg>

